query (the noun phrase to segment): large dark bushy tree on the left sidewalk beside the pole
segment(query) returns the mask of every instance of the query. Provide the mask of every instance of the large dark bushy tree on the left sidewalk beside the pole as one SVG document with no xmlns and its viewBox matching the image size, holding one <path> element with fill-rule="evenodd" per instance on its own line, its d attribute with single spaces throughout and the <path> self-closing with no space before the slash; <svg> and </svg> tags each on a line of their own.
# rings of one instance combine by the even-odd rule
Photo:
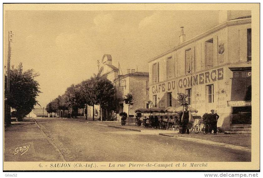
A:
<svg viewBox="0 0 263 178">
<path fill-rule="evenodd" d="M 16 68 L 11 67 L 10 93 L 13 97 L 10 100 L 10 106 L 16 109 L 18 121 L 29 114 L 35 105 L 39 105 L 36 97 L 41 91 L 39 91 L 39 83 L 35 80 L 38 76 L 39 73 L 34 69 L 23 72 L 22 62 Z"/>
</svg>

